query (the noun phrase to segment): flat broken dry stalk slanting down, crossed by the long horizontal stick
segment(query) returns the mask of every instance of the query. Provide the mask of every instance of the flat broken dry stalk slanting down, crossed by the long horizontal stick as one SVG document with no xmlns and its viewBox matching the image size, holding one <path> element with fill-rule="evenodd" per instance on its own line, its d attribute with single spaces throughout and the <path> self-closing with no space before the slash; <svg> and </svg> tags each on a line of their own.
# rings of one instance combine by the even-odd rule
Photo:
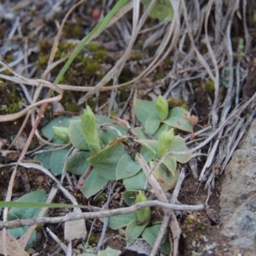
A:
<svg viewBox="0 0 256 256">
<path fill-rule="evenodd" d="M 154 175 L 150 175 L 152 170 L 150 170 L 150 168 L 148 167 L 148 164 L 146 163 L 145 159 L 143 158 L 143 156 L 141 156 L 141 154 L 138 155 L 137 159 L 138 159 L 138 162 L 140 163 L 140 166 L 141 166 L 143 172 L 145 173 L 148 181 L 150 182 L 150 185 L 154 189 L 154 193 L 156 194 L 157 199 L 160 202 L 164 202 L 165 204 L 167 204 L 168 200 L 164 194 L 164 191 L 161 188 L 161 186 L 159 185 L 159 183 L 157 182 Z M 171 216 L 172 216 L 172 218 L 170 220 L 170 228 L 171 228 L 172 234 L 173 234 L 173 256 L 177 256 L 178 255 L 178 246 L 179 246 L 179 237 L 181 234 L 181 230 L 180 230 L 179 223 L 176 219 L 176 216 L 175 216 L 173 210 L 174 209 L 172 209 L 172 210 L 164 209 L 164 214 L 171 214 Z"/>
</svg>

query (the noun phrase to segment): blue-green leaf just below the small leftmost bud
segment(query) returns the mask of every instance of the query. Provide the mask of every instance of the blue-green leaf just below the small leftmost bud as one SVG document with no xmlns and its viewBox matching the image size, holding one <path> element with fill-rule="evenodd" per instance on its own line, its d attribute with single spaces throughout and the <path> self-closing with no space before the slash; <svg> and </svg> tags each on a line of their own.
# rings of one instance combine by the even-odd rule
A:
<svg viewBox="0 0 256 256">
<path fill-rule="evenodd" d="M 56 150 L 52 152 L 51 156 L 51 172 L 54 175 L 58 175 L 62 173 L 65 159 L 67 158 L 67 154 L 70 150 L 70 147 L 61 148 L 60 150 Z"/>
</svg>

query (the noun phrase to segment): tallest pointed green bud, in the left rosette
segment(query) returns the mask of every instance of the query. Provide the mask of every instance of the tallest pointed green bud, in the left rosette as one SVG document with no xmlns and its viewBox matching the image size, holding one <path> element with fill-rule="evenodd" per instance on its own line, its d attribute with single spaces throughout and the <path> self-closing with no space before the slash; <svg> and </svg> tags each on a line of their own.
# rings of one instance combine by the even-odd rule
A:
<svg viewBox="0 0 256 256">
<path fill-rule="evenodd" d="M 83 113 L 81 125 L 84 138 L 88 143 L 88 147 L 93 152 L 93 154 L 96 154 L 101 150 L 99 134 L 97 131 L 95 115 L 89 106 L 87 106 Z"/>
</svg>

